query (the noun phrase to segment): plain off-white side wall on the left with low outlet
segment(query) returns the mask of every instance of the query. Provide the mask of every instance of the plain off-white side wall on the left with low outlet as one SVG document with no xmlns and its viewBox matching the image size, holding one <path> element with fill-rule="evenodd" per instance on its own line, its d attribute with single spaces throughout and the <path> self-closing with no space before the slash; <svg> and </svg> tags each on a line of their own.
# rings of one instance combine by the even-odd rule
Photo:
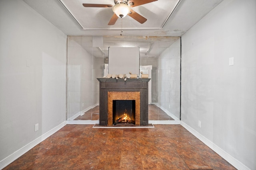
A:
<svg viewBox="0 0 256 170">
<path fill-rule="evenodd" d="M 0 21 L 1 161 L 66 121 L 67 36 L 20 0 Z"/>
</svg>

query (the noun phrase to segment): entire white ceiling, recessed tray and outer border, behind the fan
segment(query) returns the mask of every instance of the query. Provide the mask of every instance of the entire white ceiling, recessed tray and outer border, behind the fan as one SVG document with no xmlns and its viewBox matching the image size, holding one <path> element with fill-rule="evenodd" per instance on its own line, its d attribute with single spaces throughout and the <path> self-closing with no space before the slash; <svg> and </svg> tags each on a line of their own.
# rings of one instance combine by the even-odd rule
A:
<svg viewBox="0 0 256 170">
<path fill-rule="evenodd" d="M 85 8 L 82 4 L 114 5 L 114 0 L 24 0 L 66 35 L 116 36 L 121 33 L 122 21 L 122 35 L 125 36 L 174 37 L 184 34 L 221 1 L 158 0 L 132 8 L 148 19 L 145 23 L 138 23 L 130 16 L 126 16 L 123 19 L 118 18 L 115 25 L 108 25 L 113 15 L 112 8 Z M 176 4 L 178 6 L 175 8 Z"/>
</svg>

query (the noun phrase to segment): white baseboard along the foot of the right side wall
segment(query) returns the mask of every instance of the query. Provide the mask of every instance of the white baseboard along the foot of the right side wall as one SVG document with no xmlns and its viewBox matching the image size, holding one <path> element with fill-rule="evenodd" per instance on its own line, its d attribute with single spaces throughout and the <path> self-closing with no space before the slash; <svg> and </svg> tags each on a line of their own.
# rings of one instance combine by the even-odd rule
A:
<svg viewBox="0 0 256 170">
<path fill-rule="evenodd" d="M 182 125 L 185 129 L 187 129 L 190 133 L 192 133 L 195 137 L 197 137 L 200 141 L 202 141 L 205 145 L 207 145 L 210 149 L 212 149 L 214 152 L 219 154 L 222 158 L 224 158 L 226 161 L 228 161 L 232 166 L 237 168 L 238 170 L 250 170 L 247 166 L 242 164 L 242 162 L 238 161 L 236 158 L 228 154 L 226 151 L 212 143 L 209 139 L 192 129 L 190 126 L 188 126 L 183 121 L 180 121 L 180 125 Z"/>
</svg>

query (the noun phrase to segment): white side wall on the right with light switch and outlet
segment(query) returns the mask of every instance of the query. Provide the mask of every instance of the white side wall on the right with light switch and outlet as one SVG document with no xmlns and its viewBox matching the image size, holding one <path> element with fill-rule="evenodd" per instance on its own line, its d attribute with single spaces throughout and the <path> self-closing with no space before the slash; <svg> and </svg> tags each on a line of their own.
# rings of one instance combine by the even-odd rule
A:
<svg viewBox="0 0 256 170">
<path fill-rule="evenodd" d="M 182 36 L 182 122 L 250 169 L 256 169 L 255 7 L 255 0 L 224 0 Z"/>
</svg>

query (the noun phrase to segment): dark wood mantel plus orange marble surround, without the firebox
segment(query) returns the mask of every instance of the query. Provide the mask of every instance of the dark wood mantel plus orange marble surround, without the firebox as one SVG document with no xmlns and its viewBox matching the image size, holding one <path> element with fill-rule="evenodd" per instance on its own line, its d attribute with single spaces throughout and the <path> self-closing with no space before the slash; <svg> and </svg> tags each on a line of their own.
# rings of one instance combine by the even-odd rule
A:
<svg viewBox="0 0 256 170">
<path fill-rule="evenodd" d="M 148 82 L 150 78 L 97 78 L 100 82 L 100 126 L 113 125 L 113 100 L 136 100 L 135 123 L 148 125 Z"/>
</svg>

